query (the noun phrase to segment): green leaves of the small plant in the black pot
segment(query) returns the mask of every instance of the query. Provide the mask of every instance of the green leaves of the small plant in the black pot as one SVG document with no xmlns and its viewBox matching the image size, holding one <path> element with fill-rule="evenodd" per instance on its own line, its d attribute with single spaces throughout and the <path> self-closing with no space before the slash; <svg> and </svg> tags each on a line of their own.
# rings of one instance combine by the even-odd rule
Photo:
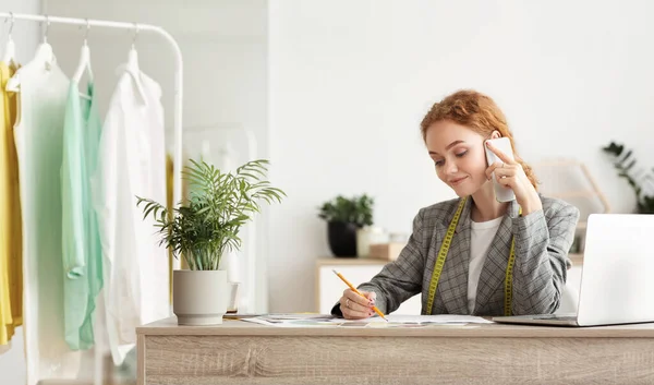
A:
<svg viewBox="0 0 654 385">
<path fill-rule="evenodd" d="M 373 205 L 375 201 L 363 194 L 347 198 L 338 195 L 336 198 L 325 202 L 319 207 L 318 217 L 330 221 L 354 224 L 359 227 L 373 225 Z"/>
</svg>

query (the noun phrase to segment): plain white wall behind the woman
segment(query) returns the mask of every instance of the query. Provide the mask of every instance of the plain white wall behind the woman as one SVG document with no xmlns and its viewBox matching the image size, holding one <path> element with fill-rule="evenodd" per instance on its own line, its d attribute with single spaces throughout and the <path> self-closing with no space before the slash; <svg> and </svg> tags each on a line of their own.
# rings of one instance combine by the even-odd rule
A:
<svg viewBox="0 0 654 385">
<path fill-rule="evenodd" d="M 528 161 L 581 160 L 614 212 L 630 212 L 600 148 L 625 142 L 654 166 L 652 12 L 644 0 L 271 0 L 270 155 L 289 198 L 271 210 L 270 310 L 314 309 L 324 201 L 370 193 L 378 225 L 410 231 L 420 207 L 453 196 L 419 123 L 458 88 L 495 98 Z"/>
</svg>

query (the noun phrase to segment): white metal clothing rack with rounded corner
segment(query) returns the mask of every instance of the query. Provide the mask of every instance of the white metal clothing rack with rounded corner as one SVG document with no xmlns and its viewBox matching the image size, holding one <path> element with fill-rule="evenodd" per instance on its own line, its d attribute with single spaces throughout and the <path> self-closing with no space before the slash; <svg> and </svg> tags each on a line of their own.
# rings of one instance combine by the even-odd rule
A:
<svg viewBox="0 0 654 385">
<path fill-rule="evenodd" d="M 164 37 L 166 41 L 172 47 L 172 51 L 174 53 L 174 108 L 173 108 L 173 124 L 174 124 L 174 136 L 173 136 L 173 192 L 172 192 L 172 202 L 173 205 L 177 205 L 180 202 L 182 196 L 182 98 L 183 98 L 183 59 L 182 51 L 180 50 L 180 46 L 175 41 L 175 39 L 164 28 L 149 24 L 140 24 L 140 23 L 129 23 L 129 22 L 116 22 L 116 21 L 106 21 L 106 20 L 93 20 L 93 19 L 75 19 L 75 17 L 60 17 L 60 16 L 50 16 L 50 15 L 40 15 L 40 14 L 26 14 L 26 13 L 13 13 L 13 12 L 0 12 L 0 17 L 3 17 L 5 21 L 11 22 L 10 28 L 13 27 L 13 22 L 15 20 L 21 21 L 29 21 L 29 22 L 39 22 L 46 23 L 46 34 L 44 35 L 47 38 L 47 31 L 51 23 L 55 24 L 69 24 L 69 25 L 78 25 L 85 26 L 88 29 L 90 27 L 106 27 L 113 29 L 132 29 L 135 33 L 136 38 L 137 34 L 141 32 L 150 32 L 156 35 L 160 35 Z M 11 29 L 10 29 L 11 31 Z M 44 41 L 47 41 L 44 39 Z M 181 263 L 179 260 L 172 261 L 172 268 L 180 268 Z M 96 334 L 98 335 L 98 334 Z M 95 349 L 95 359 L 94 359 L 94 384 L 101 385 L 102 384 L 102 357 L 101 349 L 102 344 L 97 344 L 94 347 Z"/>
</svg>

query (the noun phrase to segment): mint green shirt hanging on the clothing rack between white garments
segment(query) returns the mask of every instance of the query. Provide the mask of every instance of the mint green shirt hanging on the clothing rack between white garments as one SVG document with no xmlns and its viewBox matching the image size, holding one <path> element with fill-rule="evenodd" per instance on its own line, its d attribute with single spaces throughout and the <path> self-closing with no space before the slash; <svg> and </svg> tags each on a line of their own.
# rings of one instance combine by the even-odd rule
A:
<svg viewBox="0 0 654 385">
<path fill-rule="evenodd" d="M 94 345 L 94 313 L 102 288 L 101 245 L 90 187 L 102 124 L 90 82 L 87 96 L 81 96 L 78 84 L 71 82 L 61 165 L 64 333 L 73 350 Z"/>
</svg>

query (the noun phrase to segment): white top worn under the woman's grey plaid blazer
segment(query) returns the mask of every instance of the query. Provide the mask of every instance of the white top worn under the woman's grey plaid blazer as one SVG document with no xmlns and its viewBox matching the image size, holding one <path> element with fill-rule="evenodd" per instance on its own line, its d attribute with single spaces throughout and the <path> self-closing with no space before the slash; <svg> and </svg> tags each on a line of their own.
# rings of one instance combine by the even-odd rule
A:
<svg viewBox="0 0 654 385">
<path fill-rule="evenodd" d="M 468 269 L 468 312 L 472 314 L 476 301 L 476 289 L 484 268 L 488 248 L 504 217 L 470 224 L 470 266 Z"/>
</svg>

